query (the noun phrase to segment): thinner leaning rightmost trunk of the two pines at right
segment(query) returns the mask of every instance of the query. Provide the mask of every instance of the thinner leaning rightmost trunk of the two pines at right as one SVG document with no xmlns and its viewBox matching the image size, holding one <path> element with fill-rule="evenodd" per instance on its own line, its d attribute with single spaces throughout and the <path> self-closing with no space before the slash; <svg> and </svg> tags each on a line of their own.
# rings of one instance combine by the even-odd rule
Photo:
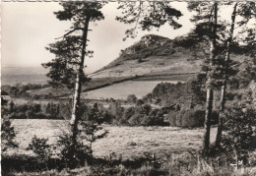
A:
<svg viewBox="0 0 256 176">
<path fill-rule="evenodd" d="M 225 94 L 226 94 L 226 82 L 228 79 L 228 62 L 230 59 L 230 43 L 232 42 L 233 37 L 233 29 L 234 29 L 234 23 L 235 23 L 235 16 L 236 16 L 236 7 L 238 2 L 235 3 L 233 7 L 232 17 L 231 17 L 231 28 L 229 31 L 229 35 L 226 42 L 226 53 L 224 58 L 224 83 L 222 86 L 222 93 L 221 93 L 221 108 L 219 112 L 219 123 L 218 123 L 218 131 L 216 136 L 216 146 L 220 146 L 221 139 L 222 139 L 222 133 L 223 133 L 223 117 L 224 117 L 224 103 L 225 103 Z"/>
</svg>

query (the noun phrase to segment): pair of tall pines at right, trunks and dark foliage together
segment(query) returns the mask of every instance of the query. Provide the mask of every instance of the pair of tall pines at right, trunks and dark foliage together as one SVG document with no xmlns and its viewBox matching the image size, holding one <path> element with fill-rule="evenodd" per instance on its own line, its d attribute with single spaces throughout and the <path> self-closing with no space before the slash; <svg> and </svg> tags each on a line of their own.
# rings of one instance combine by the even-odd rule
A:
<svg viewBox="0 0 256 176">
<path fill-rule="evenodd" d="M 230 24 L 222 21 L 218 12 L 220 8 L 226 8 L 231 6 L 233 11 L 230 17 Z M 207 89 L 207 99 L 206 99 L 206 117 L 205 117 L 205 136 L 203 142 L 203 148 L 205 150 L 209 149 L 210 144 L 210 129 L 211 129 L 211 115 L 213 108 L 213 97 L 214 97 L 214 84 L 220 83 L 221 86 L 221 107 L 220 107 L 220 116 L 219 116 L 219 125 L 218 125 L 218 134 L 216 139 L 216 146 L 220 146 L 222 138 L 222 129 L 223 129 L 223 116 L 224 116 L 224 104 L 226 96 L 226 84 L 233 72 L 232 66 L 239 65 L 239 63 L 232 63 L 230 58 L 230 52 L 233 51 L 234 45 L 240 43 L 243 46 L 248 46 L 248 43 L 251 43 L 252 40 L 255 41 L 255 38 L 244 40 L 239 40 L 239 35 L 236 37 L 233 36 L 234 26 L 243 29 L 243 37 L 250 37 L 251 28 L 248 27 L 248 24 L 251 22 L 251 19 L 255 20 L 256 8 L 254 2 L 228 2 L 228 3 L 219 3 L 219 2 L 208 2 L 208 3 L 189 3 L 188 7 L 191 11 L 196 11 L 197 14 L 194 16 L 193 21 L 196 23 L 196 28 L 199 34 L 205 35 L 210 40 L 210 49 L 209 49 L 209 63 L 206 65 L 206 84 Z M 239 16 L 240 21 L 235 22 L 235 19 Z M 219 19 L 220 18 L 220 19 Z M 253 24 L 255 27 L 255 24 Z M 224 28 L 227 26 L 229 28 Z M 200 29 L 201 28 L 201 29 Z M 207 33 L 202 29 L 209 29 Z M 252 28 L 253 29 L 253 28 Z M 255 29 L 255 28 L 254 28 Z M 227 34 L 225 34 L 226 32 Z M 241 33 L 240 33 L 241 34 Z M 224 56 L 222 56 L 224 54 Z M 221 57 L 221 61 L 220 58 Z M 242 62 L 242 61 L 240 61 Z"/>
</svg>

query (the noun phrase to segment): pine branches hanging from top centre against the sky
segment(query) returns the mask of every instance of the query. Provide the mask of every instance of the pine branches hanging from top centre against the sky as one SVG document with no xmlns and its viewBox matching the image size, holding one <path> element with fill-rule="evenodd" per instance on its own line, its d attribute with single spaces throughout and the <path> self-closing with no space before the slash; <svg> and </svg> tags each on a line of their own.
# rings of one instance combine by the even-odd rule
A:
<svg viewBox="0 0 256 176">
<path fill-rule="evenodd" d="M 116 17 L 117 21 L 135 25 L 126 30 L 126 37 L 135 37 L 139 29 L 160 29 L 166 23 L 173 29 L 181 28 L 176 19 L 182 14 L 179 10 L 172 8 L 170 2 L 122 2 L 118 9 L 122 10 L 122 15 Z"/>
</svg>

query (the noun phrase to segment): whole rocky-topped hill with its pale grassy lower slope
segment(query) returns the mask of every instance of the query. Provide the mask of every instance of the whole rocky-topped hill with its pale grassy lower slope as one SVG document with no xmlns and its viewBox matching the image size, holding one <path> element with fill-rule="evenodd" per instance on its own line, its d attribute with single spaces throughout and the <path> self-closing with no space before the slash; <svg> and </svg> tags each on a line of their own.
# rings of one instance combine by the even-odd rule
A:
<svg viewBox="0 0 256 176">
<path fill-rule="evenodd" d="M 117 59 L 91 74 L 92 78 L 188 74 L 200 71 L 203 52 L 189 49 L 184 38 L 171 40 L 149 34 L 121 50 Z"/>
</svg>

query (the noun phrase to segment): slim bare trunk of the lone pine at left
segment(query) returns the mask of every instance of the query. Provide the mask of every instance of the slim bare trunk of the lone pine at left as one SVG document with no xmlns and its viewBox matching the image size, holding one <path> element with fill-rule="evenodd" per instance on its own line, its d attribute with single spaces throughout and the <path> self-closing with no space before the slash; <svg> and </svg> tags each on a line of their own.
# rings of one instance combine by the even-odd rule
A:
<svg viewBox="0 0 256 176">
<path fill-rule="evenodd" d="M 89 27 L 90 17 L 87 17 L 86 24 L 83 30 L 83 36 L 82 36 L 82 54 L 81 54 L 81 60 L 79 63 L 79 68 L 77 71 L 77 77 L 76 77 L 76 85 L 74 90 L 74 98 L 73 98 L 73 106 L 72 106 L 72 115 L 70 120 L 71 125 L 71 132 L 72 132 L 72 141 L 73 145 L 75 147 L 77 143 L 77 134 L 78 134 L 78 122 L 79 118 L 79 106 L 80 106 L 80 96 L 81 96 L 81 88 L 82 88 L 82 76 L 83 76 L 83 69 L 84 69 L 84 61 L 86 56 L 86 47 L 87 47 L 87 35 L 88 35 L 88 27 Z"/>
</svg>

